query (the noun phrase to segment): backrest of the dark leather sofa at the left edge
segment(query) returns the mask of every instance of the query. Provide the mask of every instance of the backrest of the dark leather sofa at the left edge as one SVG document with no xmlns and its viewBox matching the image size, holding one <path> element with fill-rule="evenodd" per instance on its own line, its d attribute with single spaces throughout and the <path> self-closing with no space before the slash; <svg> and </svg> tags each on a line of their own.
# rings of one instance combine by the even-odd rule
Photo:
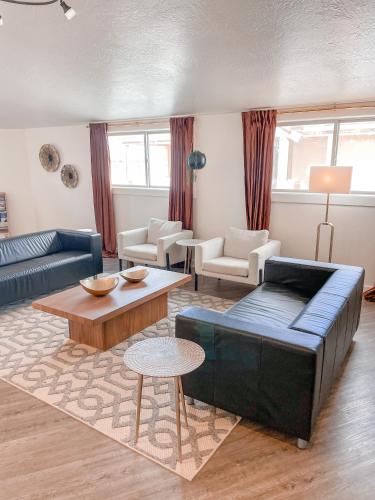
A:
<svg viewBox="0 0 375 500">
<path fill-rule="evenodd" d="M 0 266 L 35 259 L 63 249 L 57 231 L 25 234 L 3 240 L 0 245 Z"/>
</svg>

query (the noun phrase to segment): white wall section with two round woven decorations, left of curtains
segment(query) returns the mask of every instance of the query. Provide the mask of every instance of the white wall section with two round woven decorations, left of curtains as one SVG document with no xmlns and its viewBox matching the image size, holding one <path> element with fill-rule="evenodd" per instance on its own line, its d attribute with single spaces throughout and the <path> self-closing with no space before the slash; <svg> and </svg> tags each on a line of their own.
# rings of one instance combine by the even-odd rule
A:
<svg viewBox="0 0 375 500">
<path fill-rule="evenodd" d="M 57 172 L 43 169 L 39 161 L 43 144 L 56 146 L 61 166 L 72 164 L 77 167 L 77 188 L 64 186 L 60 169 Z M 84 125 L 29 129 L 26 131 L 26 148 L 38 229 L 95 229 L 89 129 Z"/>
</svg>

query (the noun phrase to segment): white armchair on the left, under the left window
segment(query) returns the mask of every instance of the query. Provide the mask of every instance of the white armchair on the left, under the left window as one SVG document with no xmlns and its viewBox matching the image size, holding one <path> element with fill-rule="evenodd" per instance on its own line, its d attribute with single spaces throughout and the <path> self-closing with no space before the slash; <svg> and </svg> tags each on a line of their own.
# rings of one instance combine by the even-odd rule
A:
<svg viewBox="0 0 375 500">
<path fill-rule="evenodd" d="M 180 221 L 161 219 L 150 219 L 148 227 L 118 233 L 120 270 L 123 260 L 169 269 L 185 259 L 185 248 L 176 245 L 176 241 L 192 237 L 193 231 L 183 230 Z"/>
</svg>

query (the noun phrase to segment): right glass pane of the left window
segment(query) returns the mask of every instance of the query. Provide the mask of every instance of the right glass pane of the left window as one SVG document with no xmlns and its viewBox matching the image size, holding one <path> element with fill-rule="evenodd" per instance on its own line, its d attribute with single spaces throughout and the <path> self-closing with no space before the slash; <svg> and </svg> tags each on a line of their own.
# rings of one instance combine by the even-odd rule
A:
<svg viewBox="0 0 375 500">
<path fill-rule="evenodd" d="M 169 187 L 171 177 L 171 134 L 150 133 L 148 136 L 150 185 Z"/>
</svg>

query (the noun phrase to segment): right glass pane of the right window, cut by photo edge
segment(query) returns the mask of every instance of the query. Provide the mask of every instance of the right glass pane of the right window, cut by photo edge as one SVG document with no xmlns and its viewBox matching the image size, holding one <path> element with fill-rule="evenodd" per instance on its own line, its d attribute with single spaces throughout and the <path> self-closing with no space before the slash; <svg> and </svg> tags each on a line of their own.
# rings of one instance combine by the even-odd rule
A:
<svg viewBox="0 0 375 500">
<path fill-rule="evenodd" d="M 340 123 L 337 165 L 353 167 L 352 191 L 375 191 L 375 122 Z"/>
</svg>

